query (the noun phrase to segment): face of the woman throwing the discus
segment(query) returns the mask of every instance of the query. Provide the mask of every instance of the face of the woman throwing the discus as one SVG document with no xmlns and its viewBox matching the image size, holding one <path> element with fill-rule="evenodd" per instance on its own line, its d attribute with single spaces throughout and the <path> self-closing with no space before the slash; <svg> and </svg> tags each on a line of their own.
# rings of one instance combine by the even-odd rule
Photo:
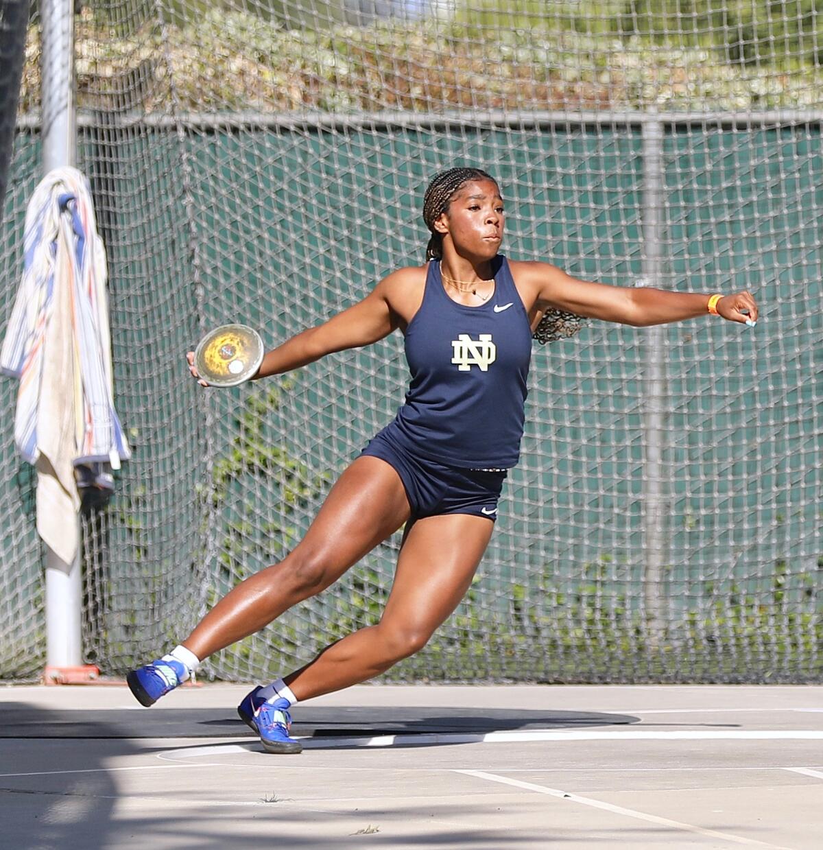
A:
<svg viewBox="0 0 823 850">
<path fill-rule="evenodd" d="M 459 254 L 493 258 L 503 241 L 503 198 L 493 180 L 472 180 L 457 190 L 435 226 L 451 236 Z"/>
</svg>

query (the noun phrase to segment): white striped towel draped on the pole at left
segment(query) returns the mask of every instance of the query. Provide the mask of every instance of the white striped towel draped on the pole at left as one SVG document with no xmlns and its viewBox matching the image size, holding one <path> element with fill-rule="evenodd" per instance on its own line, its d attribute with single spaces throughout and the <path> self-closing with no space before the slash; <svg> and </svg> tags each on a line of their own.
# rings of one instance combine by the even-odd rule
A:
<svg viewBox="0 0 823 850">
<path fill-rule="evenodd" d="M 75 168 L 54 169 L 37 186 L 24 251 L 0 371 L 20 379 L 14 441 L 37 465 L 37 530 L 70 563 L 75 465 L 118 468 L 130 457 L 112 393 L 105 250 L 87 180 Z"/>
</svg>

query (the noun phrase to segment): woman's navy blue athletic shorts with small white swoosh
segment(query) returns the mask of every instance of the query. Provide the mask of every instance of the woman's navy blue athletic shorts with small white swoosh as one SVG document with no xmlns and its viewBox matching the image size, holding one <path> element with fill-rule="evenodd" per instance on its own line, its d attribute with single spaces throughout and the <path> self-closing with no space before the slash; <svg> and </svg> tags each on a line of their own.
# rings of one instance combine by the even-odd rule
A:
<svg viewBox="0 0 823 850">
<path fill-rule="evenodd" d="M 397 440 L 380 431 L 362 454 L 379 457 L 395 469 L 403 482 L 411 506 L 411 519 L 446 513 L 471 513 L 497 519 L 497 502 L 507 470 L 448 467 L 419 457 Z"/>
</svg>

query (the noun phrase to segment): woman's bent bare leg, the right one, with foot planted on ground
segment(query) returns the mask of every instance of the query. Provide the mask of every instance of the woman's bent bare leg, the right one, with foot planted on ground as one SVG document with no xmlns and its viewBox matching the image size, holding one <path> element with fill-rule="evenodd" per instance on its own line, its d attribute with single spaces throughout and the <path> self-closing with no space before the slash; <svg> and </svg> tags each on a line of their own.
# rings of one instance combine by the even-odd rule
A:
<svg viewBox="0 0 823 850">
<path fill-rule="evenodd" d="M 465 513 L 415 522 L 403 541 L 380 623 L 332 643 L 286 676 L 297 699 L 364 682 L 425 646 L 471 586 L 492 530 L 491 520 Z"/>
</svg>

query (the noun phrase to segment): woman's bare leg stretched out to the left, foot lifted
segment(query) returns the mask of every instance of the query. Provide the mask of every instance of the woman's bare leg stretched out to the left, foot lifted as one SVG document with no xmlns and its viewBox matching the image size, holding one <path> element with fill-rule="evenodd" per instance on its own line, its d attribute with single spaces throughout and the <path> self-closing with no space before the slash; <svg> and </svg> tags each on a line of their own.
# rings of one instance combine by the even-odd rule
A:
<svg viewBox="0 0 823 850">
<path fill-rule="evenodd" d="M 295 550 L 228 592 L 183 646 L 204 660 L 260 631 L 329 587 L 407 519 L 409 501 L 397 472 L 377 457 L 358 457 L 331 488 Z"/>
</svg>

